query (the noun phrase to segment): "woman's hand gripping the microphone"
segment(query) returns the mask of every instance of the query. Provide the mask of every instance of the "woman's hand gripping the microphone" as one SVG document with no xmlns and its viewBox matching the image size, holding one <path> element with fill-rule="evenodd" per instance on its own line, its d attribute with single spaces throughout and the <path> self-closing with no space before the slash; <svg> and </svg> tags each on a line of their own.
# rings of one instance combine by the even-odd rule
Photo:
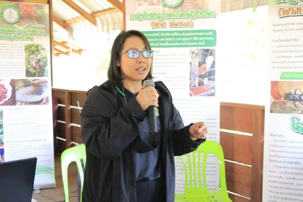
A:
<svg viewBox="0 0 303 202">
<path fill-rule="evenodd" d="M 158 98 L 159 94 L 157 93 L 157 90 L 154 87 L 149 86 L 139 91 L 136 100 L 145 111 L 149 106 L 158 107 Z"/>
</svg>

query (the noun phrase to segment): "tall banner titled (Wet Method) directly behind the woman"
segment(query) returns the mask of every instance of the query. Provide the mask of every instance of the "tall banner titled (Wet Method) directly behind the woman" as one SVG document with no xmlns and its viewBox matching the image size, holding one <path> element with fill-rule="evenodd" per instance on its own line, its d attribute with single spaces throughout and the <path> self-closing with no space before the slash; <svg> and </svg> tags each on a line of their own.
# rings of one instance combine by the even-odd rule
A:
<svg viewBox="0 0 303 202">
<path fill-rule="evenodd" d="M 205 121 L 207 139 L 219 142 L 216 47 L 221 1 L 126 0 L 125 5 L 126 30 L 142 31 L 148 38 L 154 50 L 155 81 L 161 80 L 168 87 L 184 124 Z M 175 158 L 175 167 L 176 193 L 183 193 L 181 157 Z M 218 190 L 218 160 L 210 154 L 206 180 L 210 191 Z"/>
</svg>

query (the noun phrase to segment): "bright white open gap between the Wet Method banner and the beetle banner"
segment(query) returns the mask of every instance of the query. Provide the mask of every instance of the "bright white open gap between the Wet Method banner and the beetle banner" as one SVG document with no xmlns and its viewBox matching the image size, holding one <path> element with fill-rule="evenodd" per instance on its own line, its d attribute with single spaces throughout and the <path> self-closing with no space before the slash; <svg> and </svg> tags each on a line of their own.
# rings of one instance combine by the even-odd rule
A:
<svg viewBox="0 0 303 202">
<path fill-rule="evenodd" d="M 265 105 L 268 5 L 221 14 L 220 100 Z M 218 35 L 219 35 L 218 34 Z"/>
</svg>

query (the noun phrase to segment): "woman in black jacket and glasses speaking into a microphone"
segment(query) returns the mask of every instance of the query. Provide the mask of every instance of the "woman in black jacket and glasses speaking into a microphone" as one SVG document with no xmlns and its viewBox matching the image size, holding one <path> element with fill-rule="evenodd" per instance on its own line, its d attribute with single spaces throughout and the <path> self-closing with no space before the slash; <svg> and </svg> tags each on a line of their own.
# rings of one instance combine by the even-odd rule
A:
<svg viewBox="0 0 303 202">
<path fill-rule="evenodd" d="M 112 46 L 108 81 L 87 92 L 81 112 L 86 167 L 82 202 L 173 202 L 174 156 L 205 141 L 203 122 L 184 127 L 171 94 L 151 79 L 151 47 L 139 31 L 121 32 Z M 157 107 L 150 135 L 146 109 Z"/>
</svg>

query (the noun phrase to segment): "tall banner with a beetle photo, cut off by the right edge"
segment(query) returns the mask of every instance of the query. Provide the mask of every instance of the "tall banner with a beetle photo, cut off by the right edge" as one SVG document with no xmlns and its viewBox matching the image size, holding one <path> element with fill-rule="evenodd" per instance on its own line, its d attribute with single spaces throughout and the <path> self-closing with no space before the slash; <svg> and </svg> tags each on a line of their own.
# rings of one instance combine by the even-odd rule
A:
<svg viewBox="0 0 303 202">
<path fill-rule="evenodd" d="M 303 2 L 270 0 L 268 9 L 262 201 L 303 201 Z"/>
</svg>

